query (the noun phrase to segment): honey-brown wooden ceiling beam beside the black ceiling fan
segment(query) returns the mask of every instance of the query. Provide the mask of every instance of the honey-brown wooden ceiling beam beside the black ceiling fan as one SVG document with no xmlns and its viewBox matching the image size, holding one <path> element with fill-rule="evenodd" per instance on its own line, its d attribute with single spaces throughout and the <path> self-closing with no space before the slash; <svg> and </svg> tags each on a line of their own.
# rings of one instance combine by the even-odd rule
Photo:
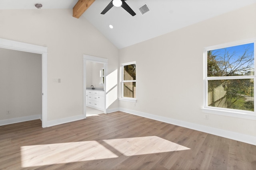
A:
<svg viewBox="0 0 256 170">
<path fill-rule="evenodd" d="M 78 0 L 73 8 L 73 17 L 79 18 L 95 0 Z"/>
</svg>

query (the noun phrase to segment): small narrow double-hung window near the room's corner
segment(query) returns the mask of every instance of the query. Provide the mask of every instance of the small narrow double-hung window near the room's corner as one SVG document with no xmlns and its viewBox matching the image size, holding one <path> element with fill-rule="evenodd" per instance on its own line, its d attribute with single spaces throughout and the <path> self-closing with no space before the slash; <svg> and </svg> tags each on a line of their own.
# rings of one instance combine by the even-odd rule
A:
<svg viewBox="0 0 256 170">
<path fill-rule="evenodd" d="M 122 64 L 122 98 L 136 98 L 136 63 Z"/>
</svg>

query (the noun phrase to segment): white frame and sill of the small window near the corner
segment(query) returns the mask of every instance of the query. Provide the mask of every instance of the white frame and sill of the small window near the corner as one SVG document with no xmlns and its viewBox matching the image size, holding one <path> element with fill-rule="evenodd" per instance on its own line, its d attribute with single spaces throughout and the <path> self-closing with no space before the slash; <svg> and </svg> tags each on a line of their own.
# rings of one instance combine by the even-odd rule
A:
<svg viewBox="0 0 256 170">
<path fill-rule="evenodd" d="M 121 100 L 121 101 L 126 101 L 126 102 L 136 102 L 137 101 L 136 98 L 124 97 L 124 82 L 135 82 L 136 83 L 136 80 L 124 80 L 124 66 L 131 65 L 131 64 L 136 64 L 136 61 L 121 64 L 121 86 L 122 86 L 121 89 L 122 89 L 122 92 L 120 95 L 121 97 L 119 98 L 119 100 Z M 137 79 L 137 77 L 136 77 L 136 79 Z"/>
</svg>

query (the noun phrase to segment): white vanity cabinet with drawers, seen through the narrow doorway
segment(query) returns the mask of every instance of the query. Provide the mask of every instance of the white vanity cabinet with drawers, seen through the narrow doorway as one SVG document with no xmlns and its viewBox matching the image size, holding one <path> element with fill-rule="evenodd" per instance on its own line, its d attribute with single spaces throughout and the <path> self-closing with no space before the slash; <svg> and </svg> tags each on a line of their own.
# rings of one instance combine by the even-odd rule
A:
<svg viewBox="0 0 256 170">
<path fill-rule="evenodd" d="M 86 90 L 86 105 L 104 110 L 104 91 Z"/>
</svg>

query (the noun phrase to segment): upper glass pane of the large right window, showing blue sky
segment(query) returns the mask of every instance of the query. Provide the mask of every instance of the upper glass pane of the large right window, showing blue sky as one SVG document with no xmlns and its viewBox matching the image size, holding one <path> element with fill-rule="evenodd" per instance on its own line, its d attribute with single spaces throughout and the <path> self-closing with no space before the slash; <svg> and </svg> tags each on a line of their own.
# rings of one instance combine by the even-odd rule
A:
<svg viewBox="0 0 256 170">
<path fill-rule="evenodd" d="M 207 51 L 207 76 L 254 75 L 254 43 Z"/>
</svg>

